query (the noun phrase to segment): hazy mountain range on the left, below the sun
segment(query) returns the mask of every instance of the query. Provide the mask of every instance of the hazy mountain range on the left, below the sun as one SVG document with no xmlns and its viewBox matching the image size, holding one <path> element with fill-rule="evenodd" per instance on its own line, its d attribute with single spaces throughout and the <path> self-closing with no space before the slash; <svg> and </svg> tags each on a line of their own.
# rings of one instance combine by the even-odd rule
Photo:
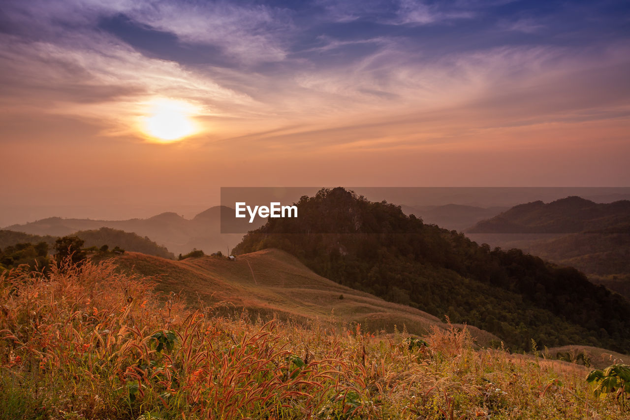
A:
<svg viewBox="0 0 630 420">
<path fill-rule="evenodd" d="M 146 236 L 168 248 L 175 254 L 185 254 L 193 248 L 204 250 L 206 253 L 227 252 L 240 242 L 243 235 L 221 233 L 221 221 L 228 223 L 224 226 L 232 228 L 226 231 L 246 232 L 257 228 L 260 224 L 246 225 L 246 228 L 234 228 L 243 225 L 243 219 L 233 221 L 234 209 L 226 206 L 210 207 L 197 214 L 193 219 L 185 219 L 176 213 L 161 213 L 148 219 L 128 220 L 91 220 L 91 219 L 63 219 L 59 217 L 41 219 L 25 225 L 12 225 L 6 230 L 29 233 L 31 235 L 65 236 L 82 230 L 98 230 L 112 228 L 126 232 L 134 232 Z M 229 216 L 229 217 L 226 217 Z"/>
</svg>

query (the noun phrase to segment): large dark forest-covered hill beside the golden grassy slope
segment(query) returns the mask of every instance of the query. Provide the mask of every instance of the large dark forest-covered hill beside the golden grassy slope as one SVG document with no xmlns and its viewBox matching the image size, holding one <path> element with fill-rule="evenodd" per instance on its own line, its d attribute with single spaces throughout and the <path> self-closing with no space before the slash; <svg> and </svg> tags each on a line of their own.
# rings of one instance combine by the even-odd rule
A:
<svg viewBox="0 0 630 420">
<path fill-rule="evenodd" d="M 283 249 L 320 276 L 475 325 L 516 349 L 529 349 L 532 339 L 539 347 L 630 349 L 630 302 L 575 269 L 479 246 L 342 188 L 297 206 L 299 218 L 268 220 L 234 252 Z"/>
</svg>

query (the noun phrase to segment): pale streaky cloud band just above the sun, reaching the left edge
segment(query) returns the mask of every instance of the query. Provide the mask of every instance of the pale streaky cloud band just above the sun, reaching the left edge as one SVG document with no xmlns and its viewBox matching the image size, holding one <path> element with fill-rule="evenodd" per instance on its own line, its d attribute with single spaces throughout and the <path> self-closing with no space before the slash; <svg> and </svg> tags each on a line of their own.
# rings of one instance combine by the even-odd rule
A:
<svg viewBox="0 0 630 420">
<path fill-rule="evenodd" d="M 243 117 L 260 107 L 248 95 L 172 61 L 145 57 L 107 35 L 28 42 L 0 35 L 4 111 L 75 115 L 103 132 L 137 134 L 135 119 L 154 96 L 187 100 L 202 115 Z"/>
</svg>

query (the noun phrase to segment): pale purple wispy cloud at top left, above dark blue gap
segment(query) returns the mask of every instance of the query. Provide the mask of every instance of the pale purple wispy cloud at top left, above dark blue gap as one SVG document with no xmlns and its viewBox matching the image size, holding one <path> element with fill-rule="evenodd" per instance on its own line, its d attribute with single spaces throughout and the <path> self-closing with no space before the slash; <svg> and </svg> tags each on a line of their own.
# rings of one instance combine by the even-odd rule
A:
<svg viewBox="0 0 630 420">
<path fill-rule="evenodd" d="M 42 26 L 35 32 L 47 35 L 59 33 L 60 24 L 94 29 L 103 17 L 124 15 L 138 25 L 173 33 L 184 43 L 215 45 L 248 64 L 282 61 L 295 29 L 287 9 L 229 1 L 33 0 L 11 9 L 9 15 L 24 25 L 37 21 Z"/>
</svg>

